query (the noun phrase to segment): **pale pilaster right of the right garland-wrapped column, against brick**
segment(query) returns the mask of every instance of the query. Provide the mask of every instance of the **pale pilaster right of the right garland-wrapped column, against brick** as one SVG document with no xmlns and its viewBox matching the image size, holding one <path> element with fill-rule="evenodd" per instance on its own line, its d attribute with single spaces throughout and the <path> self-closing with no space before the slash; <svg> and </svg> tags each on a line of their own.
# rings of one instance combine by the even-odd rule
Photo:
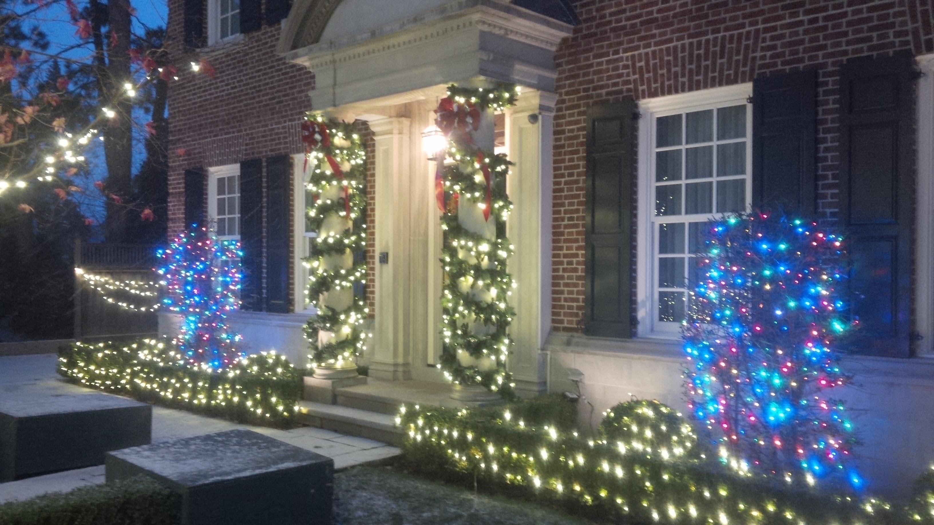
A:
<svg viewBox="0 0 934 525">
<path fill-rule="evenodd" d="M 552 123 L 557 96 L 523 91 L 506 113 L 506 178 L 515 208 L 506 223 L 515 253 L 509 271 L 517 282 L 510 303 L 516 318 L 509 370 L 522 397 L 545 391 L 545 339 L 551 328 Z"/>
</svg>

